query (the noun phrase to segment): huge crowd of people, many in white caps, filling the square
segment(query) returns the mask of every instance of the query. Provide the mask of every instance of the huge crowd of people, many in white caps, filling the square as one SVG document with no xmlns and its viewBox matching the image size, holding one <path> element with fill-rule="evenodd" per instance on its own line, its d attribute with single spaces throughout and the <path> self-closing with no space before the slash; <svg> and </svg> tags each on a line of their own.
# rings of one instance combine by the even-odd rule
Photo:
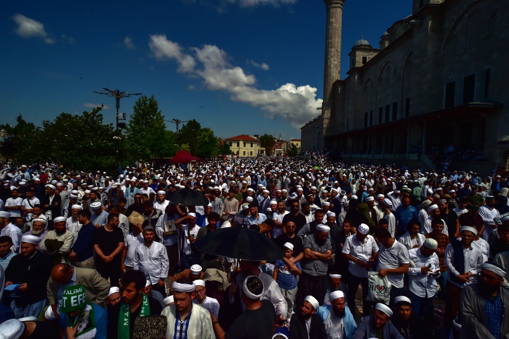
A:
<svg viewBox="0 0 509 339">
<path fill-rule="evenodd" d="M 7 163 L 0 337 L 509 337 L 507 177 L 326 154 L 117 173 Z M 172 202 L 182 189 L 208 203 Z M 194 244 L 236 227 L 280 259 Z"/>
</svg>

